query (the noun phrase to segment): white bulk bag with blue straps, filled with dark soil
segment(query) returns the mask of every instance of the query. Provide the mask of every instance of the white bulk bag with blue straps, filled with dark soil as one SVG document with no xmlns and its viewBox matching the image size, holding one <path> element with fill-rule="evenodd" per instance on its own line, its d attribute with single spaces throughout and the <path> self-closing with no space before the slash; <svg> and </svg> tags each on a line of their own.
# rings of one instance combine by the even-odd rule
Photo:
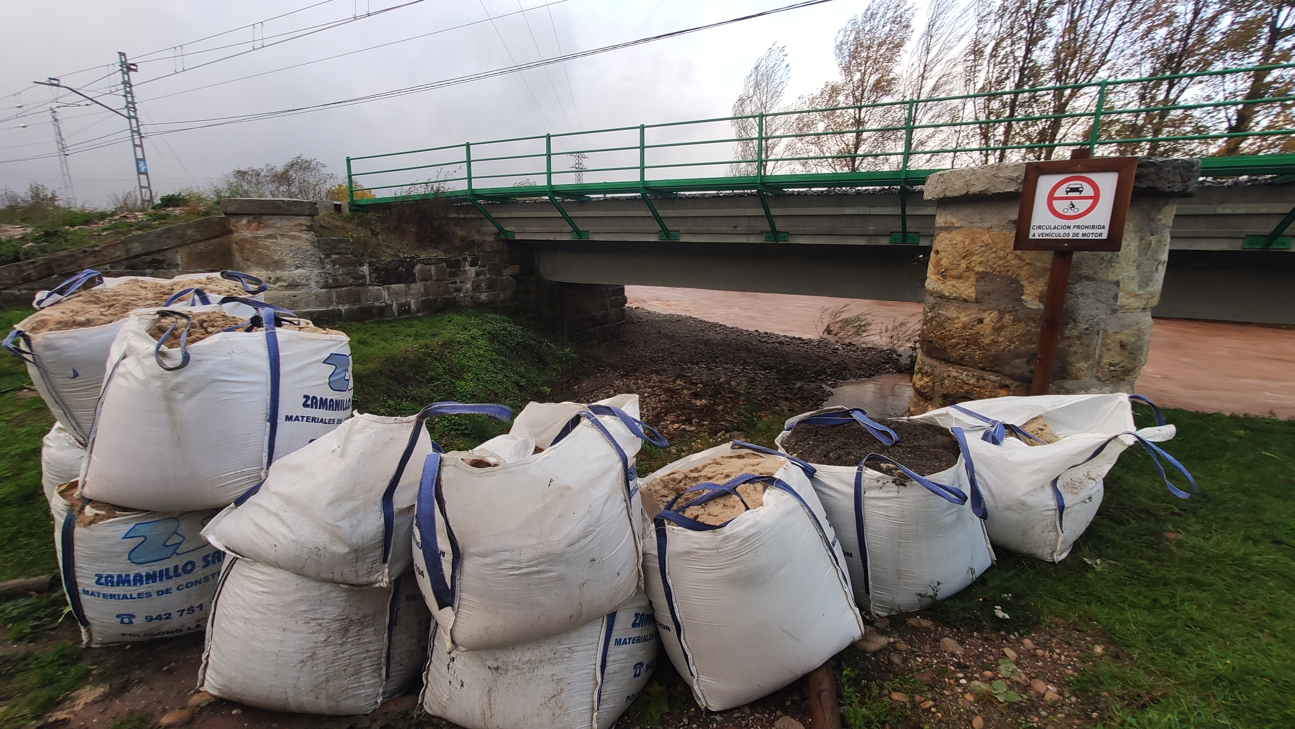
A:
<svg viewBox="0 0 1295 729">
<path fill-rule="evenodd" d="M 780 451 L 799 423 L 851 429 L 870 443 L 877 432 L 895 436 L 866 410 L 824 408 L 789 418 L 776 440 Z M 979 464 L 965 452 L 952 467 L 926 477 L 881 454 L 856 466 L 812 465 L 809 480 L 840 537 L 861 610 L 884 616 L 930 607 L 993 565 L 974 480 Z M 877 470 L 884 465 L 890 474 Z"/>
</svg>

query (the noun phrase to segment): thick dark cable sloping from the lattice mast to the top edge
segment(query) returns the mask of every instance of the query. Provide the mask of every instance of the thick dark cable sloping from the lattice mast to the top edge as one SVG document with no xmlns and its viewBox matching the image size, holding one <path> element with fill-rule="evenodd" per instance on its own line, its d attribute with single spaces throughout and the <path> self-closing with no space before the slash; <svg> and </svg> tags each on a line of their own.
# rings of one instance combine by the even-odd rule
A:
<svg viewBox="0 0 1295 729">
<path fill-rule="evenodd" d="M 508 66 L 508 67 L 504 67 L 504 69 L 495 69 L 495 70 L 491 70 L 491 71 L 480 71 L 480 73 L 477 73 L 477 74 L 467 74 L 467 75 L 456 76 L 456 78 L 452 78 L 452 79 L 443 79 L 443 80 L 439 80 L 439 82 L 431 82 L 431 83 L 426 83 L 426 84 L 417 84 L 417 85 L 411 85 L 411 87 L 403 87 L 403 88 L 396 88 L 396 89 L 391 89 L 391 91 L 385 91 L 385 92 L 378 92 L 378 93 L 370 93 L 370 95 L 365 95 L 365 96 L 356 96 L 356 97 L 352 97 L 352 98 L 343 98 L 343 100 L 339 100 L 339 101 L 329 101 L 329 102 L 325 102 L 325 104 L 312 104 L 312 105 L 307 105 L 307 106 L 297 106 L 297 107 L 293 107 L 293 109 L 280 109 L 277 111 L 260 111 L 260 113 L 256 113 L 256 114 L 238 114 L 238 115 L 232 115 L 232 117 L 212 117 L 212 118 L 208 118 L 208 119 L 186 119 L 186 120 L 183 120 L 183 122 L 164 122 L 162 124 L 150 124 L 150 126 L 194 124 L 192 127 L 180 127 L 180 128 L 172 128 L 172 129 L 163 129 L 163 131 L 157 131 L 157 132 L 152 132 L 152 133 L 154 133 L 154 135 L 174 133 L 174 132 L 183 132 L 183 131 L 189 131 L 189 129 L 201 129 L 201 128 L 208 128 L 208 127 L 220 127 L 220 126 L 225 126 L 225 124 L 240 124 L 240 123 L 243 123 L 243 122 L 255 122 L 255 120 L 260 120 L 260 119 L 272 119 L 272 118 L 277 118 L 277 117 L 293 117 L 293 115 L 297 115 L 297 114 L 307 114 L 307 113 L 319 111 L 319 110 L 322 110 L 322 109 L 339 109 L 339 107 L 343 107 L 343 106 L 352 106 L 352 105 L 356 105 L 356 104 L 368 104 L 370 101 L 378 101 L 378 100 L 382 100 L 382 98 L 395 98 L 395 97 L 399 97 L 399 96 L 408 96 L 411 93 L 421 93 L 421 92 L 425 92 L 425 91 L 431 91 L 431 89 L 438 89 L 438 88 L 445 88 L 445 87 L 451 87 L 451 85 L 460 85 L 460 84 L 465 84 L 465 83 L 471 83 L 471 82 L 477 82 L 477 80 L 495 78 L 495 76 L 502 76 L 502 75 L 506 75 L 506 74 L 515 74 L 518 71 L 526 71 L 526 70 L 531 70 L 531 69 L 539 69 L 539 67 L 543 67 L 543 66 L 548 66 L 550 63 L 561 63 L 563 61 L 574 61 L 576 58 L 587 58 L 589 56 L 597 56 L 597 54 L 609 53 L 609 52 L 613 52 L 613 50 L 622 50 L 622 49 L 625 49 L 625 48 L 632 48 L 632 47 L 636 47 L 636 45 L 642 45 L 645 43 L 654 43 L 654 41 L 658 41 L 658 40 L 667 40 L 667 39 L 671 39 L 671 38 L 679 38 L 679 36 L 682 36 L 682 35 L 688 35 L 688 34 L 693 34 L 693 32 L 699 32 L 699 31 L 703 31 L 703 30 L 711 30 L 711 28 L 716 28 L 716 27 L 721 27 L 721 26 L 726 26 L 726 25 L 732 25 L 732 23 L 739 23 L 739 22 L 743 22 L 743 21 L 761 18 L 761 17 L 772 16 L 772 14 L 776 14 L 776 13 L 783 13 L 783 12 L 787 12 L 787 10 L 798 10 L 800 8 L 808 8 L 808 6 L 812 6 L 812 5 L 821 5 L 824 3 L 831 3 L 831 1 L 833 0 L 804 0 L 802 3 L 795 3 L 795 4 L 791 4 L 791 5 L 783 5 L 782 8 L 773 8 L 771 10 L 761 10 L 759 13 L 752 13 L 752 14 L 749 14 L 749 16 L 741 16 L 741 17 L 737 17 L 737 18 L 729 18 L 726 21 L 719 21 L 719 22 L 707 23 L 707 25 L 703 25 L 703 26 L 695 26 L 695 27 L 690 27 L 690 28 L 684 28 L 684 30 L 664 32 L 664 34 L 653 35 L 653 36 L 648 36 L 648 38 L 640 38 L 637 40 L 627 40 L 627 41 L 623 41 L 623 43 L 615 43 L 615 44 L 611 44 L 611 45 L 603 45 L 601 48 L 592 48 L 589 50 L 579 50 L 579 52 L 575 52 L 575 53 L 567 53 L 565 56 L 556 56 L 553 58 L 544 58 L 544 60 L 532 61 L 532 62 L 528 62 L 528 63 L 518 63 L 518 65 Z"/>
</svg>

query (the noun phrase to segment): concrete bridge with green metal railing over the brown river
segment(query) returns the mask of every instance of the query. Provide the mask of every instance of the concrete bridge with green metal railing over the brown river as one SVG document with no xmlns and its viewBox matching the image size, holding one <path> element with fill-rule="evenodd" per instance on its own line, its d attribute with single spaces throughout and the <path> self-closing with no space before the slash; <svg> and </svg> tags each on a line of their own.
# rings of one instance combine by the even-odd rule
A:
<svg viewBox="0 0 1295 729">
<path fill-rule="evenodd" d="M 1175 78 L 1290 67 L 1295 63 Z M 1167 78 L 351 157 L 347 184 L 354 207 L 442 201 L 448 205 L 445 214 L 464 225 L 531 247 L 540 275 L 554 281 L 919 302 L 935 210 L 914 188 L 929 175 L 957 166 L 1052 158 L 1076 146 L 1093 154 L 1200 155 L 1207 181 L 1241 177 L 1267 184 L 1206 184 L 1178 202 L 1164 290 L 1154 313 L 1295 324 L 1295 258 L 1290 238 L 1282 236 L 1295 221 L 1295 186 L 1287 184 L 1295 181 L 1295 154 L 1207 154 L 1220 142 L 1290 139 L 1295 128 L 1238 132 L 1207 126 L 1200 133 L 1173 135 L 1131 123 L 1239 105 L 1276 109 L 1295 97 L 1156 106 L 1111 102 L 1121 98 L 1120 89 Z M 1059 89 L 1075 91 L 1090 105 L 1062 114 L 923 122 L 923 111 L 951 104 L 1005 95 L 1028 101 Z M 839 123 L 842 113 L 850 118 L 862 110 L 888 122 Z M 960 142 L 967 133 L 979 144 Z M 842 140 L 852 145 L 842 148 Z M 728 175 L 715 176 L 717 167 Z"/>
</svg>

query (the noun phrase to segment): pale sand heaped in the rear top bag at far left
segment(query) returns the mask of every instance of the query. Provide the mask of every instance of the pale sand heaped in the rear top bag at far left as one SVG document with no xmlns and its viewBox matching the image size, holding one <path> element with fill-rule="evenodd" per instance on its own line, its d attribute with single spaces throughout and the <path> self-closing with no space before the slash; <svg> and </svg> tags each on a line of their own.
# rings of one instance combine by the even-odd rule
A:
<svg viewBox="0 0 1295 729">
<path fill-rule="evenodd" d="M 113 324 L 126 319 L 126 315 L 133 309 L 164 306 L 171 294 L 190 287 L 202 289 L 214 297 L 249 295 L 237 281 L 228 281 L 219 276 L 180 281 L 139 278 L 123 281 L 111 287 L 76 291 L 57 304 L 22 320 L 18 329 L 27 334 L 40 334 Z"/>
</svg>

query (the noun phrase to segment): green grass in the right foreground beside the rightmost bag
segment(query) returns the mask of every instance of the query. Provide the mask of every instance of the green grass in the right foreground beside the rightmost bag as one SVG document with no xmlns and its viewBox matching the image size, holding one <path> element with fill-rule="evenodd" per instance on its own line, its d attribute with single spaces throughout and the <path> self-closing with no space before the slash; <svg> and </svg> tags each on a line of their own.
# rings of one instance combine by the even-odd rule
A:
<svg viewBox="0 0 1295 729">
<path fill-rule="evenodd" d="M 1070 557 L 1048 565 L 998 550 L 997 566 L 936 616 L 996 629 L 1096 625 L 1129 662 L 1098 663 L 1072 686 L 1121 699 L 1123 725 L 1295 726 L 1295 421 L 1166 414 L 1178 435 L 1163 445 L 1195 477 L 1193 499 L 1169 495 L 1129 448 Z"/>
</svg>

